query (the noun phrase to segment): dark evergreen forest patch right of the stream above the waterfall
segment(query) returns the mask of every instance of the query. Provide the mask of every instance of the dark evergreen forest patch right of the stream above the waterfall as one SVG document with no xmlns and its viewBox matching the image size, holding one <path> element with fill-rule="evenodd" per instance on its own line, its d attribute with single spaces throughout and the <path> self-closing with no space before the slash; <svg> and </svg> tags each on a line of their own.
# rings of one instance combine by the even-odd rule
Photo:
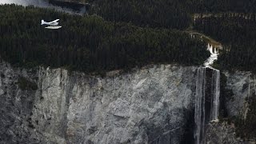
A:
<svg viewBox="0 0 256 144">
<path fill-rule="evenodd" d="M 224 44 L 222 68 L 256 71 L 256 14 L 222 14 L 198 18 L 195 29 Z"/>
</svg>

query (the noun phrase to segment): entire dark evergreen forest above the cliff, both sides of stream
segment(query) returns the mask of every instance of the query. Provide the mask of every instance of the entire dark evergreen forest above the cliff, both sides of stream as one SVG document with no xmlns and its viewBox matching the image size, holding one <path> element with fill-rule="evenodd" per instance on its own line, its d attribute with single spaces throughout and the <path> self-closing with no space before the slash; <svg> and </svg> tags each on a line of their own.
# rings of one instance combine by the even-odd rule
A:
<svg viewBox="0 0 256 144">
<path fill-rule="evenodd" d="M 85 72 L 150 63 L 200 65 L 206 43 L 188 28 L 222 42 L 218 66 L 256 70 L 255 12 L 251 0 L 90 0 L 80 16 L 33 6 L 0 6 L 1 57 L 17 66 L 64 66 Z M 195 18 L 194 14 L 199 17 Z M 211 14 L 211 16 L 207 16 Z M 62 19 L 46 30 L 41 19 Z"/>
</svg>

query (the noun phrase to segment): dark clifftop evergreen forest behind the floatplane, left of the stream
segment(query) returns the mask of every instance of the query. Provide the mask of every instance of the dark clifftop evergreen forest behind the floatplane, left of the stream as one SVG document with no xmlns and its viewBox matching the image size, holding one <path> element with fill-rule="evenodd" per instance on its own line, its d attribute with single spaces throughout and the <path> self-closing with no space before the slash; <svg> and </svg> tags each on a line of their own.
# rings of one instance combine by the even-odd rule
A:
<svg viewBox="0 0 256 144">
<path fill-rule="evenodd" d="M 62 29 L 46 30 L 41 19 L 61 19 Z M 0 54 L 20 66 L 67 66 L 86 72 L 149 63 L 198 65 L 206 44 L 178 30 L 151 29 L 53 10 L 0 6 Z"/>
</svg>

